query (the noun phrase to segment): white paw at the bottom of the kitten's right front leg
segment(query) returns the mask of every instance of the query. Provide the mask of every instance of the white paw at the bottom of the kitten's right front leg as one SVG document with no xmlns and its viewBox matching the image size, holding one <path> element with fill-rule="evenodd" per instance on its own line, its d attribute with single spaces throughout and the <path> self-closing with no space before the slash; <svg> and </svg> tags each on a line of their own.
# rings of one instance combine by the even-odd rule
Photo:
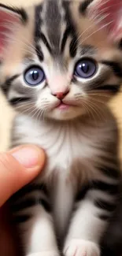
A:
<svg viewBox="0 0 122 256">
<path fill-rule="evenodd" d="M 100 256 L 100 250 L 96 243 L 83 239 L 72 239 L 66 244 L 65 256 Z"/>
</svg>

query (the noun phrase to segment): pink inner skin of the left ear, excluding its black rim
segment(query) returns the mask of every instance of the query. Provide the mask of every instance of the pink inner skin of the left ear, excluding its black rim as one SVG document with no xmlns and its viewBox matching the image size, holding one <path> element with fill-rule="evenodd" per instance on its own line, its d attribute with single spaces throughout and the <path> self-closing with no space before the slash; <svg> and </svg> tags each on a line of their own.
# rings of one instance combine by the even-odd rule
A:
<svg viewBox="0 0 122 256">
<path fill-rule="evenodd" d="M 19 23 L 20 19 L 16 13 L 10 13 L 9 11 L 4 11 L 0 9 L 0 54 L 4 46 L 6 46 L 7 35 L 11 33 L 10 26 Z M 7 26 L 8 25 L 8 26 Z"/>
</svg>

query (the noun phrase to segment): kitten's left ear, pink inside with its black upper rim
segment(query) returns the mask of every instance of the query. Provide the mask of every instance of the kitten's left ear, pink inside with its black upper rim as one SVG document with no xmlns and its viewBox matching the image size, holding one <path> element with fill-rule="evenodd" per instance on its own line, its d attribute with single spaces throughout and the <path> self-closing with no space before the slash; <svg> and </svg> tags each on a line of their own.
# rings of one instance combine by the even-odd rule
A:
<svg viewBox="0 0 122 256">
<path fill-rule="evenodd" d="M 14 9 L 0 4 L 0 54 L 17 24 L 27 20 L 24 9 Z"/>
</svg>

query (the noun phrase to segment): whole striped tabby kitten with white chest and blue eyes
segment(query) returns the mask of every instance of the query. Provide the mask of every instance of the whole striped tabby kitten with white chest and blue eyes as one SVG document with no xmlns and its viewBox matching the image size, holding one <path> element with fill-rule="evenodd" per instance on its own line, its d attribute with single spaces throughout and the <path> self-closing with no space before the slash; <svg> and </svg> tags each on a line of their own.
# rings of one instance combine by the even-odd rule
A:
<svg viewBox="0 0 122 256">
<path fill-rule="evenodd" d="M 46 151 L 43 172 L 13 195 L 24 256 L 98 256 L 120 184 L 117 128 L 122 3 L 45 0 L 0 6 L 1 87 L 19 113 L 11 147 Z"/>
</svg>

